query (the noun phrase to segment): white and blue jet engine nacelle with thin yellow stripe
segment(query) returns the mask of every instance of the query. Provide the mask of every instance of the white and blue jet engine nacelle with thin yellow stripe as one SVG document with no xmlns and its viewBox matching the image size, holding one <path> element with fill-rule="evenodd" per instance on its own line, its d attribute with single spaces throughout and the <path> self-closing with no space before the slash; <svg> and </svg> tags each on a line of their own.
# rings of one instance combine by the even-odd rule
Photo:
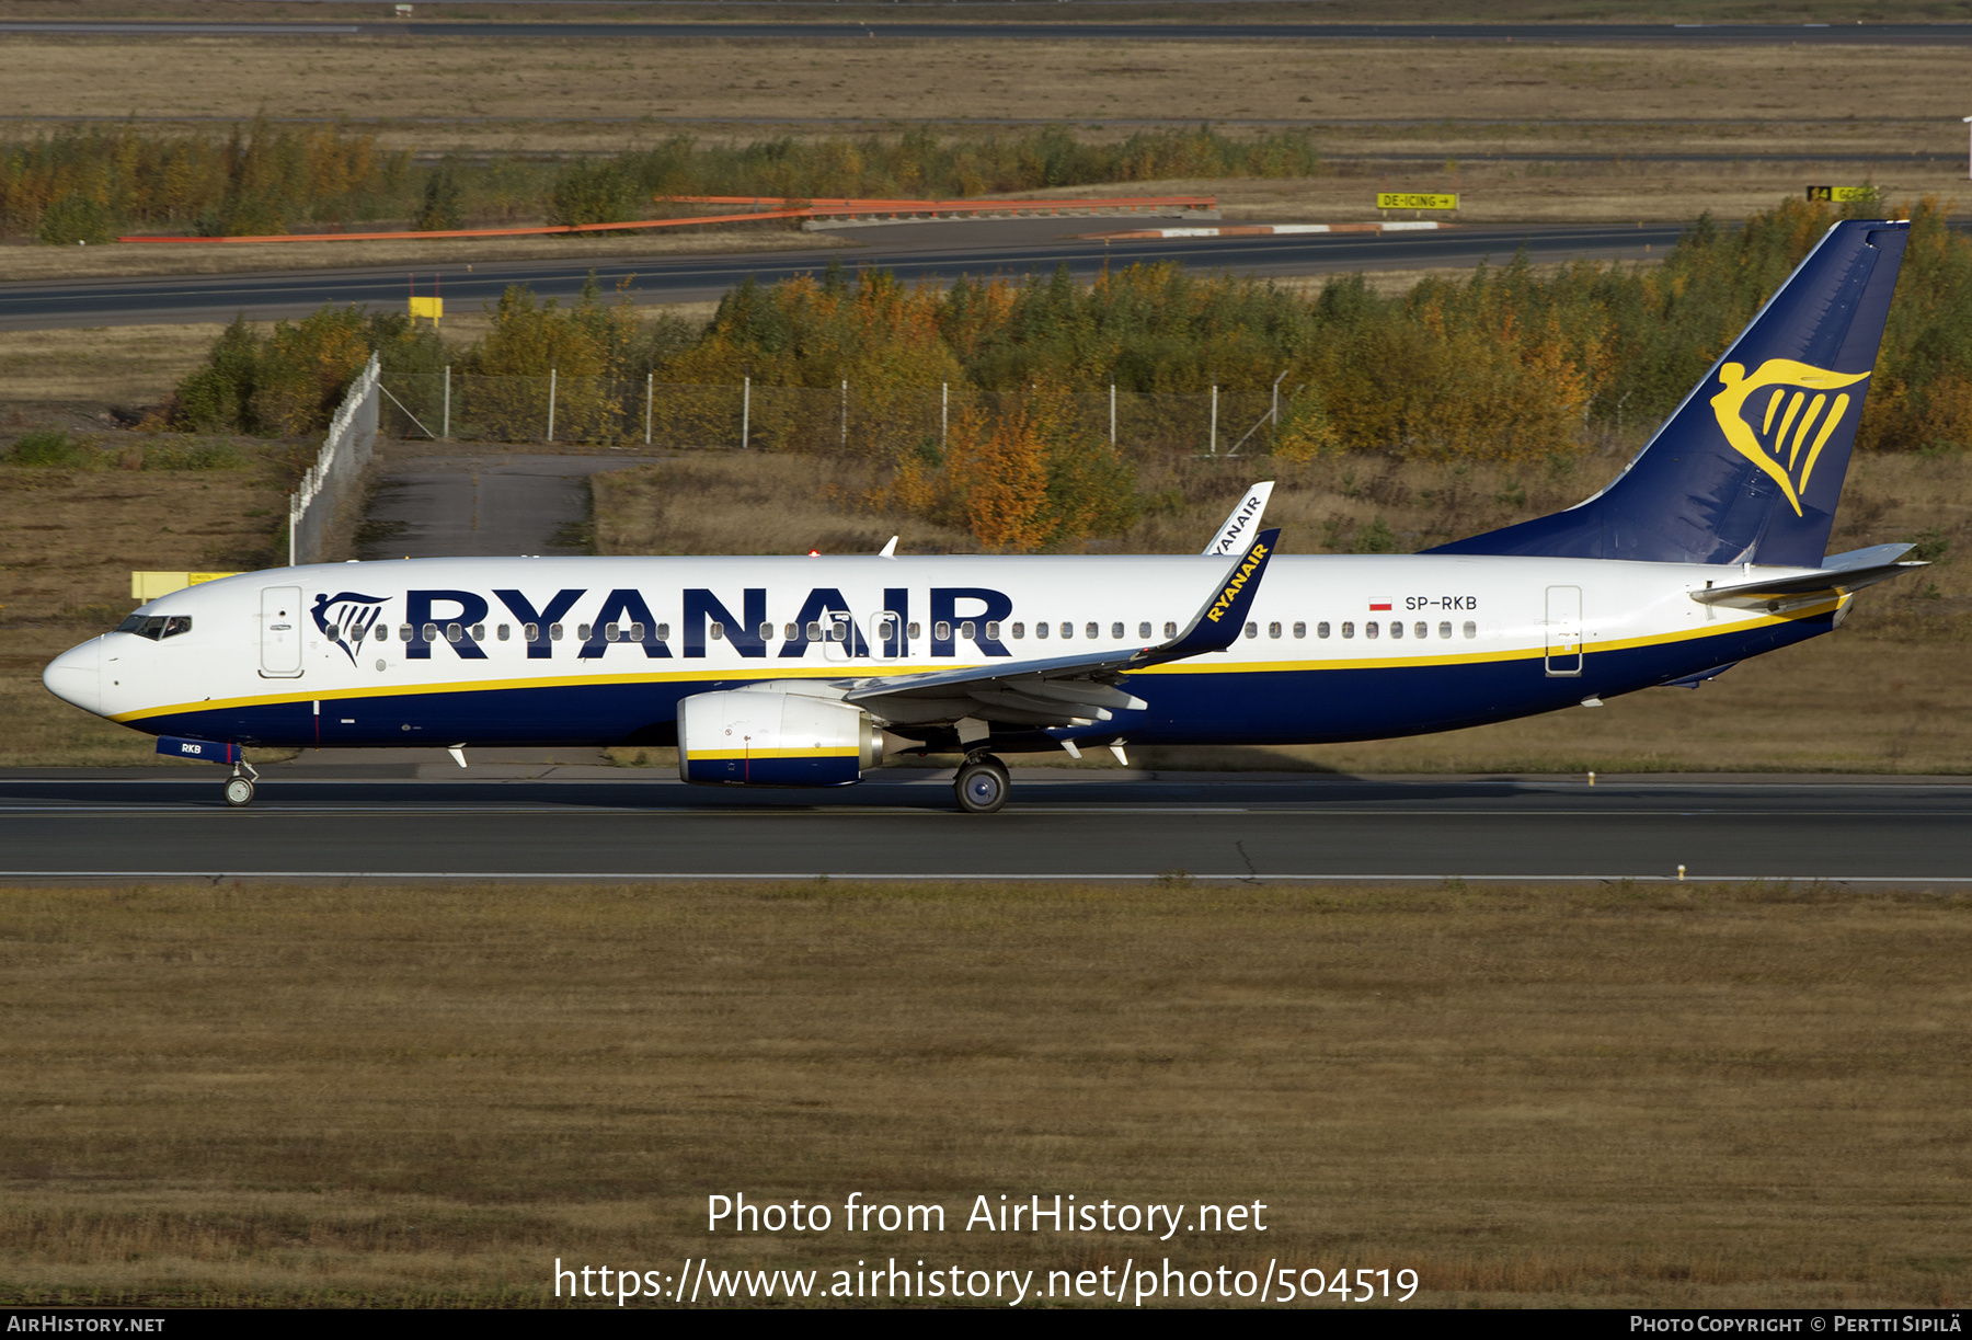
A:
<svg viewBox="0 0 1972 1340">
<path fill-rule="evenodd" d="M 883 730 L 860 707 L 732 689 L 678 701 L 678 776 L 728 785 L 848 785 L 883 762 Z"/>
</svg>

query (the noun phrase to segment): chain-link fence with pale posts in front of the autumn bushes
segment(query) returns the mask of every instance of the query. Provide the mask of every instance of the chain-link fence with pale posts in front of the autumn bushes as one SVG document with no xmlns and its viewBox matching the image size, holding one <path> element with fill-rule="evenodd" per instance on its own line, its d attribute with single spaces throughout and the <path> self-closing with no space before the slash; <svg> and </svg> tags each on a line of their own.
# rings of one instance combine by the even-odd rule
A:
<svg viewBox="0 0 1972 1340">
<path fill-rule="evenodd" d="M 385 373 L 383 391 L 383 432 L 394 438 L 868 456 L 943 450 L 962 412 L 992 418 L 1033 395 L 952 385 L 690 387 L 558 373 Z M 1266 391 L 1112 389 L 1065 399 L 1075 428 L 1128 452 L 1264 456 L 1274 446 L 1276 399 Z"/>
</svg>

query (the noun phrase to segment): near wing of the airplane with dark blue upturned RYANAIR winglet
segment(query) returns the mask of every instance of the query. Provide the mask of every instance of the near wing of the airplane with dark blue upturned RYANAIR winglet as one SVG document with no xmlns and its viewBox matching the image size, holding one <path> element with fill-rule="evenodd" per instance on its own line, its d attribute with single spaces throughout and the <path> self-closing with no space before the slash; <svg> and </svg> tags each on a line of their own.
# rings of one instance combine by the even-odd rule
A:
<svg viewBox="0 0 1972 1340">
<path fill-rule="evenodd" d="M 1150 707 L 1122 689 L 1118 679 L 1130 671 L 1231 647 L 1246 624 L 1278 539 L 1278 529 L 1262 531 L 1232 560 L 1183 632 L 1154 647 L 883 675 L 860 681 L 844 699 L 901 726 L 962 716 L 1018 726 L 1091 726 L 1110 720 L 1118 710 Z"/>
</svg>

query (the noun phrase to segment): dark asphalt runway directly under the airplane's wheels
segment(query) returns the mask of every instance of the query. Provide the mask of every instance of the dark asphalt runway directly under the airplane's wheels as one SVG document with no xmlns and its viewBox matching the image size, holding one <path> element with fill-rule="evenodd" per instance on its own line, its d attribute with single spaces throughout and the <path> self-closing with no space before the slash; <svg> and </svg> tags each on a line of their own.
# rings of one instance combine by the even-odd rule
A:
<svg viewBox="0 0 1972 1340">
<path fill-rule="evenodd" d="M 308 756 L 314 758 L 314 756 Z M 446 764 L 450 768 L 450 764 Z M 951 774 L 834 791 L 663 772 L 416 780 L 270 768 L 0 778 L 0 876 L 1134 876 L 1972 882 L 1972 783 L 1867 778 L 1357 780 L 1016 770 L 998 815 Z M 398 768 L 396 772 L 412 772 Z M 542 772 L 542 770 L 534 770 Z"/>
</svg>

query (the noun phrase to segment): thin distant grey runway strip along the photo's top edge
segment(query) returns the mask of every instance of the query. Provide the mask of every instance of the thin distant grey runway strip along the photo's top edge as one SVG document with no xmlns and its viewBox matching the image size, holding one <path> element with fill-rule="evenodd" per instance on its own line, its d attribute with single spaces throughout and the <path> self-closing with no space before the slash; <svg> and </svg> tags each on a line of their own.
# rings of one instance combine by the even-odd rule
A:
<svg viewBox="0 0 1972 1340">
<path fill-rule="evenodd" d="M 919 8 L 919 6 L 911 6 Z M 945 8 L 945 6 L 939 6 Z M 1004 10 L 1002 10 L 1004 12 Z M 505 37 L 552 39 L 704 39 L 704 41 L 870 41 L 874 37 L 937 41 L 1542 41 L 1566 45 L 1938 45 L 1972 41 L 1972 24 L 1167 24 L 1167 22 L 4 22 L 6 34 L 170 36 L 201 37 Z"/>
</svg>

